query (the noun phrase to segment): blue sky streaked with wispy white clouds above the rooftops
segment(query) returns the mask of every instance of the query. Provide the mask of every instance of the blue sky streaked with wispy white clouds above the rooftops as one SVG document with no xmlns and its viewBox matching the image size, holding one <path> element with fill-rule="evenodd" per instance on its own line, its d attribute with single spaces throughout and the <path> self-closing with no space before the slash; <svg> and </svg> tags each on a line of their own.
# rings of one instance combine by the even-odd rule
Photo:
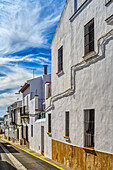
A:
<svg viewBox="0 0 113 170">
<path fill-rule="evenodd" d="M 66 0 L 0 0 L 0 116 L 26 80 L 51 70 L 50 44 Z"/>
</svg>

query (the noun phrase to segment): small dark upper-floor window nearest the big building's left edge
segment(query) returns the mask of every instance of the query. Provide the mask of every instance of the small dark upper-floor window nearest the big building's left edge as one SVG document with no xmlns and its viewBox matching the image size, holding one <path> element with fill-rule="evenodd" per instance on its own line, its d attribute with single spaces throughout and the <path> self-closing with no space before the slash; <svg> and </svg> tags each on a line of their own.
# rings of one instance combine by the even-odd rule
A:
<svg viewBox="0 0 113 170">
<path fill-rule="evenodd" d="M 63 70 L 63 46 L 58 50 L 58 72 Z"/>
</svg>

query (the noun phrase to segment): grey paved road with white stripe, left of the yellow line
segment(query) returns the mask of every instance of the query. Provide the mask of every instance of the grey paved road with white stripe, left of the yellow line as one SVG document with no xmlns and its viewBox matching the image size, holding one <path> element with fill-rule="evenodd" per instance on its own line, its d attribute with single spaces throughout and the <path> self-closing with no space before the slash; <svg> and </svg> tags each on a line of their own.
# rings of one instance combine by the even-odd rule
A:
<svg viewBox="0 0 113 170">
<path fill-rule="evenodd" d="M 57 170 L 56 167 L 0 140 L 0 170 Z"/>
</svg>

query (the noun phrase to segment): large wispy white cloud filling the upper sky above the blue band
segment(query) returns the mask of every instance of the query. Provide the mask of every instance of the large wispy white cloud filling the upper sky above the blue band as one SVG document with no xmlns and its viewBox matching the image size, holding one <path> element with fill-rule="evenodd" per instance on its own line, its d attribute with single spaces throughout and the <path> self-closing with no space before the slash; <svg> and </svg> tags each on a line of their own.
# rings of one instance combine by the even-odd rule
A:
<svg viewBox="0 0 113 170">
<path fill-rule="evenodd" d="M 41 4 L 41 0 L 0 1 L 1 54 L 28 47 L 48 46 L 47 29 L 56 24 L 60 17 L 61 6 L 55 6 L 56 2 L 43 0 Z M 44 10 L 46 15 L 43 17 Z"/>
</svg>

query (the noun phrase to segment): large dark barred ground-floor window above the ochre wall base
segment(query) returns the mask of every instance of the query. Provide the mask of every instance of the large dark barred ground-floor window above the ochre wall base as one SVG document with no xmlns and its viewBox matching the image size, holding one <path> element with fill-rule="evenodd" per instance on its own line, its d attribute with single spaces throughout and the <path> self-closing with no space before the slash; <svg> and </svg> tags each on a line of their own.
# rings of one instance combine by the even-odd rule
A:
<svg viewBox="0 0 113 170">
<path fill-rule="evenodd" d="M 95 110 L 84 111 L 84 145 L 94 147 Z"/>
</svg>

